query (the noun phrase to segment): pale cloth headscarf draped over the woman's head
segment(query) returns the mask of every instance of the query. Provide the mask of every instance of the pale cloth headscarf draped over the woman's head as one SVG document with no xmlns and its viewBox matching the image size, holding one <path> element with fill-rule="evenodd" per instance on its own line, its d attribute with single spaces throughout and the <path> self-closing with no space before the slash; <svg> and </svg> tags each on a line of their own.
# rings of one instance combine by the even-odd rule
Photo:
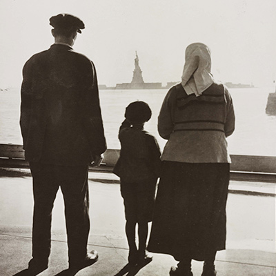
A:
<svg viewBox="0 0 276 276">
<path fill-rule="evenodd" d="M 209 48 L 203 43 L 193 43 L 186 48 L 181 85 L 188 95 L 197 97 L 214 82 Z"/>
</svg>

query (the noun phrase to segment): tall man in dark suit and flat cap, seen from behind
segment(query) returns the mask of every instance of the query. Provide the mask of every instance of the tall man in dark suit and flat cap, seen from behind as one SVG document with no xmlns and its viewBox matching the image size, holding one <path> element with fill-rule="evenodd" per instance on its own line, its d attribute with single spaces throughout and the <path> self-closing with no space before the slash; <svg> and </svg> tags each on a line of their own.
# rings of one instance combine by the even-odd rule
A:
<svg viewBox="0 0 276 276">
<path fill-rule="evenodd" d="M 30 275 L 48 268 L 52 207 L 63 193 L 69 268 L 97 261 L 87 253 L 88 165 L 106 150 L 95 66 L 72 46 L 84 28 L 70 14 L 50 18 L 55 44 L 23 68 L 20 126 L 33 177 L 34 216 Z"/>
</svg>

